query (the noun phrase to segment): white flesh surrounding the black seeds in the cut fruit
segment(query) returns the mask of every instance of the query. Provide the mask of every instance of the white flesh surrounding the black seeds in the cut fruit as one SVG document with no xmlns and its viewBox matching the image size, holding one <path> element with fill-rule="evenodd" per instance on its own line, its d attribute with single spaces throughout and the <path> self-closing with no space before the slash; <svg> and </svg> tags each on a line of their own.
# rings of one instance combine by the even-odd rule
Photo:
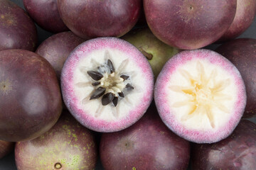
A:
<svg viewBox="0 0 256 170">
<path fill-rule="evenodd" d="M 87 71 L 99 71 L 97 67 L 103 65 L 100 72 L 102 74 L 104 71 L 109 72 L 107 69 L 107 60 L 112 61 L 115 69 L 115 77 L 119 77 L 122 74 L 129 76 L 129 79 L 123 81 L 124 84 L 121 82 L 116 88 L 112 89 L 117 93 L 119 90 L 124 92 L 124 98 L 119 97 L 116 107 L 114 107 L 112 103 L 107 106 L 102 106 L 102 97 L 89 100 L 93 91 L 99 86 L 91 85 L 95 80 L 87 74 Z M 104 74 L 104 76 L 105 77 L 102 79 L 107 79 L 108 75 Z M 144 96 L 143 91 L 147 84 L 147 80 L 143 76 L 141 67 L 139 67 L 134 60 L 130 60 L 128 55 L 124 54 L 122 51 L 114 49 L 100 49 L 90 52 L 76 67 L 73 80 L 73 83 L 75 84 L 75 96 L 80 101 L 79 108 L 87 114 L 97 117 L 97 119 L 107 121 L 124 118 L 129 114 L 129 111 L 134 110 L 134 107 L 142 102 L 142 97 Z M 103 82 L 106 83 L 106 81 Z M 134 86 L 132 91 L 126 91 L 124 89 L 124 86 L 127 83 Z M 112 90 L 110 91 L 113 92 Z"/>
</svg>

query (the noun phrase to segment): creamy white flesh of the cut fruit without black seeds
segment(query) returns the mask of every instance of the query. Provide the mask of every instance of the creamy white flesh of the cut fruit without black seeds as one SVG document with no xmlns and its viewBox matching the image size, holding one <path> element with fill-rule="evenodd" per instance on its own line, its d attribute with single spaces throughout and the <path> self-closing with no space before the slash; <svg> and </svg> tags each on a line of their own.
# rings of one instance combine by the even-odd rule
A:
<svg viewBox="0 0 256 170">
<path fill-rule="evenodd" d="M 230 120 L 238 89 L 225 69 L 208 60 L 195 60 L 181 64 L 171 74 L 167 100 L 186 128 L 215 131 Z"/>
</svg>

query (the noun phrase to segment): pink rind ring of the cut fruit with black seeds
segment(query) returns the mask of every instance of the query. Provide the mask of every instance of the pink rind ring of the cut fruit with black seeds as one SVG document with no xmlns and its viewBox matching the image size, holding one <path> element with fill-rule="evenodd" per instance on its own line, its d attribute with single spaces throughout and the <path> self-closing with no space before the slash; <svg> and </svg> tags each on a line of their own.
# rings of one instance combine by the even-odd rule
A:
<svg viewBox="0 0 256 170">
<path fill-rule="evenodd" d="M 75 96 L 75 87 L 73 83 L 73 74 L 78 62 L 80 62 L 82 58 L 87 57 L 90 52 L 101 48 L 104 49 L 105 47 L 115 50 L 118 49 L 126 53 L 130 57 L 129 60 L 132 60 L 134 64 L 137 64 L 137 67 L 142 69 L 144 77 L 149 80 L 147 81 L 148 84 L 144 86 L 142 101 L 138 103 L 137 106 L 134 106 L 134 108 L 131 108 L 132 110 L 129 111 L 129 114 L 125 118 L 112 122 L 97 119 L 83 111 L 80 108 L 81 101 L 78 101 L 78 98 Z M 68 110 L 82 125 L 97 132 L 114 132 L 129 127 L 144 115 L 153 98 L 154 77 L 146 57 L 144 57 L 136 47 L 129 44 L 129 42 L 119 38 L 95 38 L 83 42 L 70 53 L 70 56 L 63 67 L 61 87 L 63 100 Z"/>
</svg>

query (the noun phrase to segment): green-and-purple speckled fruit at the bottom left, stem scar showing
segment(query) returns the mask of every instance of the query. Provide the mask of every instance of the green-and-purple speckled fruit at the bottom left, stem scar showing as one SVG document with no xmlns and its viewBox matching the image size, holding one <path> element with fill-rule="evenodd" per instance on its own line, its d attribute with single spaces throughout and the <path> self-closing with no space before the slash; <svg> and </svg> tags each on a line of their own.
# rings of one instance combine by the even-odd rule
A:
<svg viewBox="0 0 256 170">
<path fill-rule="evenodd" d="M 97 146 L 90 130 L 70 113 L 62 113 L 48 132 L 34 140 L 17 142 L 15 160 L 18 170 L 92 170 L 97 160 Z"/>
</svg>

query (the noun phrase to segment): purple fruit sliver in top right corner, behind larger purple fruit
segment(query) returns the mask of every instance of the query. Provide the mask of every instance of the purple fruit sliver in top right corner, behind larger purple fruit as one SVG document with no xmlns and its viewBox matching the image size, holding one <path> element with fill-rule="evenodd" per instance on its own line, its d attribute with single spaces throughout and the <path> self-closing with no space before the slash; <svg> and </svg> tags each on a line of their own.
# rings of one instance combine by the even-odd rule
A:
<svg viewBox="0 0 256 170">
<path fill-rule="evenodd" d="M 256 14 L 256 1 L 238 0 L 235 18 L 230 28 L 221 36 L 220 42 L 231 40 L 241 35 L 252 24 Z"/>
</svg>

